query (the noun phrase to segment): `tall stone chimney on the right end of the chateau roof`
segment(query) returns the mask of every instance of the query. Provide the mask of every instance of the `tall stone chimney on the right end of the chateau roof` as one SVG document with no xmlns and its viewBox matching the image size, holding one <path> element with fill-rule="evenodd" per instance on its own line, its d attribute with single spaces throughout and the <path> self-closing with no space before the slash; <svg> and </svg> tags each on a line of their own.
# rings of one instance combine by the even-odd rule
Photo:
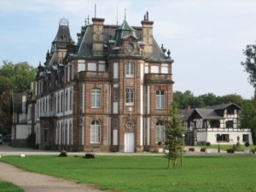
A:
<svg viewBox="0 0 256 192">
<path fill-rule="evenodd" d="M 143 43 L 145 55 L 153 55 L 153 24 L 154 21 L 148 20 L 148 11 L 144 15 L 144 20 L 142 20 L 143 25 Z"/>
</svg>

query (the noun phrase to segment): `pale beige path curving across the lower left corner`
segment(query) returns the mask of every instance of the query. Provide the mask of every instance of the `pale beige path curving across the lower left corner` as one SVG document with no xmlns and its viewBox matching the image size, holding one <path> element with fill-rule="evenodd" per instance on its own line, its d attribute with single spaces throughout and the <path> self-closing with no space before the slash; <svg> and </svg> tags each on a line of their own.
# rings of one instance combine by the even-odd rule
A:
<svg viewBox="0 0 256 192">
<path fill-rule="evenodd" d="M 26 192 L 102 192 L 95 186 L 74 183 L 61 178 L 26 172 L 0 162 L 0 180 L 20 186 Z"/>
</svg>

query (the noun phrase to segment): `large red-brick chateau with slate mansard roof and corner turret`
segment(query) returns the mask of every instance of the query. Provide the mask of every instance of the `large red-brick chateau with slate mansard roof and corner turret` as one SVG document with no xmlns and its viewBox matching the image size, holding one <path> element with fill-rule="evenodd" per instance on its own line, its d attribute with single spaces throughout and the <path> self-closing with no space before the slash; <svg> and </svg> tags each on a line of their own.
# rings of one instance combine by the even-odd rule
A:
<svg viewBox="0 0 256 192">
<path fill-rule="evenodd" d="M 68 20 L 60 20 L 28 106 L 39 148 L 136 152 L 159 147 L 172 104 L 173 61 L 154 40 L 153 24 L 148 13 L 142 26 L 132 27 L 126 20 L 114 26 L 92 18 L 75 44 Z"/>
</svg>

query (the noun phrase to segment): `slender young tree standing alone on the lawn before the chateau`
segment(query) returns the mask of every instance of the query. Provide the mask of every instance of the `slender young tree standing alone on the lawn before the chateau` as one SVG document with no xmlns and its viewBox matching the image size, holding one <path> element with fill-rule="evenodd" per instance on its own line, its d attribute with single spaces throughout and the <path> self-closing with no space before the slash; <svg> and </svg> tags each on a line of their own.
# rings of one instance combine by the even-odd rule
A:
<svg viewBox="0 0 256 192">
<path fill-rule="evenodd" d="M 166 158 L 168 160 L 168 168 L 172 160 L 173 167 L 177 167 L 177 159 L 180 158 L 181 166 L 183 166 L 183 125 L 177 108 L 170 110 L 170 115 L 166 119 Z"/>
</svg>

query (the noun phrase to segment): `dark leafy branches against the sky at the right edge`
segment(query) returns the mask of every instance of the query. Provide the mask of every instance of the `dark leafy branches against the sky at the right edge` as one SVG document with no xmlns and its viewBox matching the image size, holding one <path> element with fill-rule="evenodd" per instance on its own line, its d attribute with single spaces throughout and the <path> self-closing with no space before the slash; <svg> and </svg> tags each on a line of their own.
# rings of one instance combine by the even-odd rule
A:
<svg viewBox="0 0 256 192">
<path fill-rule="evenodd" d="M 247 48 L 243 50 L 246 55 L 246 60 L 241 62 L 245 71 L 249 74 L 248 81 L 253 85 L 254 97 L 256 97 L 256 45 L 248 44 Z"/>
</svg>

